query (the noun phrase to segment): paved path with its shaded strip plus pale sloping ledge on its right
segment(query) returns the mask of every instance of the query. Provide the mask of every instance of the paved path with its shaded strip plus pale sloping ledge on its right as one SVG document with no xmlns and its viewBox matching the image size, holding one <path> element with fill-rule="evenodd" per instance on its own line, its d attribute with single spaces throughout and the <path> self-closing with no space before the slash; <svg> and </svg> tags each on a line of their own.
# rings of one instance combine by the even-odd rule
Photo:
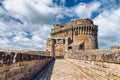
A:
<svg viewBox="0 0 120 80">
<path fill-rule="evenodd" d="M 57 59 L 33 80 L 120 80 L 119 67 L 119 64 Z"/>
</svg>

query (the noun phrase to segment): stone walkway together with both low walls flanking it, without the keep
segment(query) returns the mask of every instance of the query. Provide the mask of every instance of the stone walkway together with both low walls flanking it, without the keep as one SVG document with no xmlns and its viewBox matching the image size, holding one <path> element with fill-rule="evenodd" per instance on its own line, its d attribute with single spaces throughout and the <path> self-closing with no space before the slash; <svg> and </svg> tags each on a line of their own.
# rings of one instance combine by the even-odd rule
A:
<svg viewBox="0 0 120 80">
<path fill-rule="evenodd" d="M 120 80 L 120 50 L 80 51 L 55 61 L 45 51 L 1 50 L 0 80 Z"/>
</svg>

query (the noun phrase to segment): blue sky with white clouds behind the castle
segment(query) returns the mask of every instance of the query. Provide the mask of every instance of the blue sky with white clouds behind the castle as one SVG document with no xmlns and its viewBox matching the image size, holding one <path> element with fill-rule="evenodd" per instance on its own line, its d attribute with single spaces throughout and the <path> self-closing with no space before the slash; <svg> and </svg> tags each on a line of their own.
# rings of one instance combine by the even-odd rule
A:
<svg viewBox="0 0 120 80">
<path fill-rule="evenodd" d="M 0 48 L 44 50 L 55 24 L 90 18 L 99 48 L 120 46 L 120 0 L 0 0 Z"/>
</svg>

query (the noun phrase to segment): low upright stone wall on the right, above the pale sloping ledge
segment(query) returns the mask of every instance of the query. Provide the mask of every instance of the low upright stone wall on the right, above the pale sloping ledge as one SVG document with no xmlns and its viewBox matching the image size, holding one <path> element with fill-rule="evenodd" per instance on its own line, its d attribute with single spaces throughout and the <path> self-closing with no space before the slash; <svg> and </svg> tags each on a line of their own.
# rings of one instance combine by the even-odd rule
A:
<svg viewBox="0 0 120 80">
<path fill-rule="evenodd" d="M 68 58 L 84 61 L 120 63 L 120 49 L 69 52 Z"/>
</svg>

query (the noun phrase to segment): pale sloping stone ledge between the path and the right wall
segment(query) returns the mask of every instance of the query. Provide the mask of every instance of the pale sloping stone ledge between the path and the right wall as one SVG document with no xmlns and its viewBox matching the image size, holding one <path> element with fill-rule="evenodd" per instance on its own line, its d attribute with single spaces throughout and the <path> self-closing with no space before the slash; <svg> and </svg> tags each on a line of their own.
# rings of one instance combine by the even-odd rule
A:
<svg viewBox="0 0 120 80">
<path fill-rule="evenodd" d="M 120 65 L 115 63 L 67 59 L 81 70 L 88 80 L 120 80 Z"/>
</svg>

